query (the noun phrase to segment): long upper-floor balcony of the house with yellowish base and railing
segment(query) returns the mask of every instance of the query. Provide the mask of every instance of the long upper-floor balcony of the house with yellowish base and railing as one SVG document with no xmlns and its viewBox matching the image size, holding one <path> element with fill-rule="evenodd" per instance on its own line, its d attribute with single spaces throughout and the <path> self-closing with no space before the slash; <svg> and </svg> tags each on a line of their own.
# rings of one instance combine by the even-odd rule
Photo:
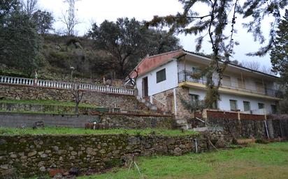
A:
<svg viewBox="0 0 288 179">
<path fill-rule="evenodd" d="M 187 70 L 178 72 L 178 82 L 180 86 L 187 86 L 192 88 L 206 88 L 206 77 L 195 79 L 192 77 L 192 74 L 192 71 Z M 217 83 L 217 80 L 217 78 L 213 78 L 215 84 Z M 282 98 L 282 91 L 280 90 L 264 88 L 263 86 L 261 86 L 261 88 L 257 88 L 256 85 L 249 86 L 246 84 L 238 84 L 232 81 L 226 82 L 225 84 L 223 84 L 222 81 L 219 91 L 223 93 L 248 95 L 253 97 L 272 97 L 272 99 L 274 100 L 279 100 L 280 98 Z"/>
</svg>

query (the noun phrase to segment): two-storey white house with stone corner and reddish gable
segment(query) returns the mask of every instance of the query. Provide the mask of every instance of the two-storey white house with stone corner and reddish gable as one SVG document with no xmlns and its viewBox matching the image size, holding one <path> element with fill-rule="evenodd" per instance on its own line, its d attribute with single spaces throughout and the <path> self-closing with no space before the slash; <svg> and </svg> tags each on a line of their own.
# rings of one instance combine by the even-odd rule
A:
<svg viewBox="0 0 288 179">
<path fill-rule="evenodd" d="M 206 77 L 193 77 L 201 68 L 209 65 L 206 56 L 183 49 L 147 56 L 131 72 L 136 77 L 138 97 L 156 105 L 162 111 L 178 118 L 191 117 L 182 100 L 204 100 Z M 256 70 L 229 64 L 219 88 L 219 100 L 213 108 L 219 111 L 240 111 L 247 114 L 272 114 L 278 110 L 278 77 Z M 217 81 L 217 74 L 213 80 Z"/>
</svg>

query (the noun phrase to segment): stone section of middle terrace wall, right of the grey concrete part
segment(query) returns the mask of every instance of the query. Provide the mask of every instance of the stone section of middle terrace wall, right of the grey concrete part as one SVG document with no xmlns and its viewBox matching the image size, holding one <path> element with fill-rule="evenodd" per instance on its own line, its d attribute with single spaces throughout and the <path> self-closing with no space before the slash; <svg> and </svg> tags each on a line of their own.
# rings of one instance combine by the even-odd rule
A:
<svg viewBox="0 0 288 179">
<path fill-rule="evenodd" d="M 100 116 L 100 123 L 109 128 L 175 128 L 175 119 L 164 115 L 104 114 Z"/>
</svg>

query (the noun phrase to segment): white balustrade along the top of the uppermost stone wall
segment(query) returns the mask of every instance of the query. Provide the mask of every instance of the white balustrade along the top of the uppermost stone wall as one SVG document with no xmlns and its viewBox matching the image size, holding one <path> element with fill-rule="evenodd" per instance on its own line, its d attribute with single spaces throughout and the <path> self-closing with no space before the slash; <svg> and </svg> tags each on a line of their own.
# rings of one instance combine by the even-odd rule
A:
<svg viewBox="0 0 288 179">
<path fill-rule="evenodd" d="M 71 89 L 76 84 L 62 82 L 62 81 L 49 81 L 43 79 L 29 79 L 21 77 L 6 77 L 0 76 L 0 84 L 16 84 L 16 85 L 27 85 L 27 86 L 39 86 L 45 88 L 61 88 Z M 113 86 L 97 86 L 94 84 L 77 84 L 80 90 L 98 91 L 102 93 L 114 93 L 122 95 L 134 95 L 134 89 L 117 88 Z"/>
</svg>

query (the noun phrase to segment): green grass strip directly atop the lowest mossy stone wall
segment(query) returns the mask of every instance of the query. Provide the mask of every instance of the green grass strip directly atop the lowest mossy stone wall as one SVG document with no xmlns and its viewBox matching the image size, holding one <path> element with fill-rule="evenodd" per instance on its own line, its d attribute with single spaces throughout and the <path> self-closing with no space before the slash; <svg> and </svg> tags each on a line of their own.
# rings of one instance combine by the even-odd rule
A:
<svg viewBox="0 0 288 179">
<path fill-rule="evenodd" d="M 134 134 L 134 135 L 147 135 L 151 133 L 166 135 L 166 136 L 177 136 L 177 135 L 188 135 L 198 134 L 197 132 L 180 130 L 161 130 L 161 129 L 145 129 L 145 130 L 125 130 L 125 129 L 111 129 L 111 130 L 85 130 L 82 128 L 66 128 L 66 127 L 45 127 L 33 130 L 32 128 L 9 128 L 0 127 L 1 135 L 22 135 L 22 134 Z"/>
</svg>

